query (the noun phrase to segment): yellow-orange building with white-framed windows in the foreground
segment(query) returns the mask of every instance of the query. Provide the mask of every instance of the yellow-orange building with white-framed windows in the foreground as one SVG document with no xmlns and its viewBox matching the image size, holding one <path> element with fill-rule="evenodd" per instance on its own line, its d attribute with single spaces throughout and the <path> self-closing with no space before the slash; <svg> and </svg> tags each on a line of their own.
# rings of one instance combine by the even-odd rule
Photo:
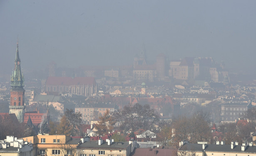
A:
<svg viewBox="0 0 256 156">
<path fill-rule="evenodd" d="M 33 144 L 33 156 L 76 156 L 77 146 L 86 141 L 86 139 L 87 138 L 73 139 L 65 135 L 49 134 L 38 134 L 23 138 L 24 141 Z"/>
</svg>

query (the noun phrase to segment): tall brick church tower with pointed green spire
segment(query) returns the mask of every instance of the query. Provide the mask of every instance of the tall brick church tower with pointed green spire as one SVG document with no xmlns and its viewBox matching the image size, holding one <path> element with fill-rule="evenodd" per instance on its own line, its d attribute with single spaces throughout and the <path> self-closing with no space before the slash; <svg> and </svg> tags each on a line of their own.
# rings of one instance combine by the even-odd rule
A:
<svg viewBox="0 0 256 156">
<path fill-rule="evenodd" d="M 19 120 L 19 122 L 23 122 L 24 114 L 25 114 L 25 102 L 24 95 L 25 90 L 24 87 L 24 77 L 21 73 L 20 68 L 20 56 L 19 56 L 19 46 L 17 42 L 17 50 L 16 57 L 14 62 L 14 70 L 12 71 L 11 76 L 11 98 L 10 98 L 10 111 L 9 114 L 14 113 Z"/>
</svg>

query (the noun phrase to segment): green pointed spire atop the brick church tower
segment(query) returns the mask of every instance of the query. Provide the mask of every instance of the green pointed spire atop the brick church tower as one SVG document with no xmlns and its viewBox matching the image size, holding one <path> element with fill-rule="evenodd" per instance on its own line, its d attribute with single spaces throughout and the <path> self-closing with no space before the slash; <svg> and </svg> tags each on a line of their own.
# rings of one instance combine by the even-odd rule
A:
<svg viewBox="0 0 256 156">
<path fill-rule="evenodd" d="M 24 77 L 21 73 L 20 68 L 20 56 L 19 56 L 19 44 L 17 42 L 17 50 L 16 50 L 16 57 L 14 62 L 14 70 L 12 71 L 11 76 L 11 86 L 12 88 L 23 88 L 24 86 Z"/>
</svg>

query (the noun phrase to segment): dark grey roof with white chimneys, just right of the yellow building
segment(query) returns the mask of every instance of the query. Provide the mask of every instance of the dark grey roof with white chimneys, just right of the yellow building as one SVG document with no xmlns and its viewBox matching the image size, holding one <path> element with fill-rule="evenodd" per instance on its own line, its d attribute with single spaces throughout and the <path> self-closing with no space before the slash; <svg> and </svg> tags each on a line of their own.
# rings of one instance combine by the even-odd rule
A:
<svg viewBox="0 0 256 156">
<path fill-rule="evenodd" d="M 102 145 L 98 145 L 98 141 L 86 141 L 83 144 L 77 146 L 77 149 L 127 149 L 129 142 L 112 142 L 111 145 L 107 145 L 107 142 L 103 141 Z"/>
</svg>

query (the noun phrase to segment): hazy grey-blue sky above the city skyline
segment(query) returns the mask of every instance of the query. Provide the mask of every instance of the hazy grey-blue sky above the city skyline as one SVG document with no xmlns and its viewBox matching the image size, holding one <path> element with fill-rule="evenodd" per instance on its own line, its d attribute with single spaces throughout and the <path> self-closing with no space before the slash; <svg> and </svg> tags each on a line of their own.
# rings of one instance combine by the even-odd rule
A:
<svg viewBox="0 0 256 156">
<path fill-rule="evenodd" d="M 0 72 L 132 65 L 146 49 L 169 59 L 213 57 L 256 66 L 256 0 L 0 0 Z M 241 66 L 240 66 L 241 65 Z M 255 73 L 255 70 L 253 71 Z"/>
</svg>

